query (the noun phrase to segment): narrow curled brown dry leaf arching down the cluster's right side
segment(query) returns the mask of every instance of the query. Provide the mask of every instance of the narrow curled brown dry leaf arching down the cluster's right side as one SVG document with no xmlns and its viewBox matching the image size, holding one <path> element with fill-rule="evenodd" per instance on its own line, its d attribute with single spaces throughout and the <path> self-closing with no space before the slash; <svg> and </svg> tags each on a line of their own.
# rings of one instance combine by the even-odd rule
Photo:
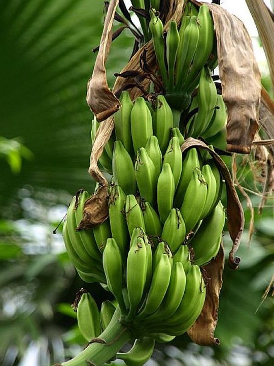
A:
<svg viewBox="0 0 274 366">
<path fill-rule="evenodd" d="M 184 144 L 181 146 L 182 153 L 189 148 L 204 148 L 206 149 L 213 159 L 215 163 L 218 165 L 223 178 L 225 179 L 226 185 L 226 196 L 227 196 L 227 226 L 230 237 L 233 241 L 232 249 L 229 253 L 229 265 L 231 268 L 236 269 L 239 265 L 241 259 L 239 257 L 235 257 L 235 253 L 239 247 L 239 243 L 241 240 L 242 232 L 244 230 L 245 217 L 243 212 L 243 207 L 241 202 L 239 201 L 237 192 L 234 188 L 230 172 L 227 169 L 227 166 L 223 162 L 223 160 L 219 157 L 215 151 L 212 151 L 208 145 L 200 140 L 196 140 L 192 137 L 186 139 Z"/>
</svg>

